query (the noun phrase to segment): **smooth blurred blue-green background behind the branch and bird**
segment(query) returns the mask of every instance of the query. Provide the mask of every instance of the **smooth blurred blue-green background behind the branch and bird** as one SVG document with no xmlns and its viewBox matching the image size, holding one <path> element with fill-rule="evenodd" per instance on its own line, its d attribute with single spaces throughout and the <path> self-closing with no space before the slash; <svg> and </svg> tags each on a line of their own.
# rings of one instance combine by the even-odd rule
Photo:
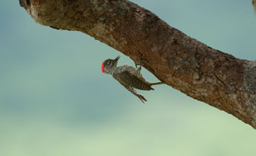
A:
<svg viewBox="0 0 256 156">
<path fill-rule="evenodd" d="M 133 0 L 187 35 L 256 60 L 250 0 Z M 0 1 L 1 156 L 256 155 L 256 131 L 169 86 L 142 104 L 100 64 L 120 52 L 80 32 L 38 25 Z M 134 65 L 121 55 L 119 65 Z M 142 69 L 146 79 L 158 82 Z"/>
</svg>

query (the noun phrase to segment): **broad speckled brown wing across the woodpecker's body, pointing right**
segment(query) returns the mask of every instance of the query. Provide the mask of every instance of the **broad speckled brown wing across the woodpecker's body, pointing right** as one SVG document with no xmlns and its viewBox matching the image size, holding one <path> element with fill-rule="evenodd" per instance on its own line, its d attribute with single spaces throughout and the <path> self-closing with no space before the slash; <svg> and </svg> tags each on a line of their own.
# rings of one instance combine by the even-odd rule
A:
<svg viewBox="0 0 256 156">
<path fill-rule="evenodd" d="M 140 89 L 140 90 L 154 90 L 151 88 L 151 84 L 149 82 L 145 82 L 145 80 L 140 79 L 136 75 L 129 73 L 127 71 L 114 73 L 113 74 L 114 79 L 117 79 L 120 83 L 124 82 L 124 84 L 129 85 L 129 87 L 132 87 L 134 89 Z"/>
</svg>

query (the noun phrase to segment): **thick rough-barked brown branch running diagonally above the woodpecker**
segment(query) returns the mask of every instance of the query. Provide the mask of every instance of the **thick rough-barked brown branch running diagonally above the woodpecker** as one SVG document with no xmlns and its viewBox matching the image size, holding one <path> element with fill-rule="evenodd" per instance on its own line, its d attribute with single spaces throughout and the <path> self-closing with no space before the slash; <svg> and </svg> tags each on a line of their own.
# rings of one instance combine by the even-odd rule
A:
<svg viewBox="0 0 256 156">
<path fill-rule="evenodd" d="M 41 25 L 110 45 L 184 94 L 256 128 L 256 62 L 220 52 L 127 0 L 19 0 Z"/>
</svg>

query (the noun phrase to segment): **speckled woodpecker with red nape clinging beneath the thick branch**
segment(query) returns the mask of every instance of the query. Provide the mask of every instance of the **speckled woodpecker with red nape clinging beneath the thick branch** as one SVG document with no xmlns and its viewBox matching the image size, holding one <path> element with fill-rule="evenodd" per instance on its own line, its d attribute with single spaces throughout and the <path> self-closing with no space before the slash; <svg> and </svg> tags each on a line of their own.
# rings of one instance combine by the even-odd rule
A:
<svg viewBox="0 0 256 156">
<path fill-rule="evenodd" d="M 163 84 L 164 82 L 147 82 L 142 76 L 142 73 L 140 72 L 142 69 L 141 66 L 139 66 L 138 68 L 132 67 L 130 65 L 122 65 L 117 67 L 117 62 L 119 58 L 120 57 L 118 56 L 114 60 L 107 59 L 102 62 L 102 72 L 105 74 L 111 74 L 114 79 L 117 79 L 120 84 L 122 84 L 128 91 L 137 96 L 142 101 L 142 103 L 144 103 L 146 99 L 144 98 L 144 96 L 137 94 L 137 91 L 135 89 L 150 91 L 154 90 L 151 87 L 152 85 Z"/>
</svg>

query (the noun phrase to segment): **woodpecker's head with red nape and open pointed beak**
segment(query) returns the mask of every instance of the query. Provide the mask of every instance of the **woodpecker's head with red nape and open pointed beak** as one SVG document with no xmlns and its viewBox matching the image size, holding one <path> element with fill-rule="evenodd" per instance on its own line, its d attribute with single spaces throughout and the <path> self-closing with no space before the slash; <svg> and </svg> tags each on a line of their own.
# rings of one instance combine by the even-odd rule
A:
<svg viewBox="0 0 256 156">
<path fill-rule="evenodd" d="M 117 68 L 117 62 L 119 58 L 120 57 L 117 56 L 117 58 L 115 58 L 114 60 L 107 59 L 104 62 L 102 62 L 102 72 L 107 74 L 112 74 L 112 72 L 114 72 L 114 69 Z"/>
</svg>

